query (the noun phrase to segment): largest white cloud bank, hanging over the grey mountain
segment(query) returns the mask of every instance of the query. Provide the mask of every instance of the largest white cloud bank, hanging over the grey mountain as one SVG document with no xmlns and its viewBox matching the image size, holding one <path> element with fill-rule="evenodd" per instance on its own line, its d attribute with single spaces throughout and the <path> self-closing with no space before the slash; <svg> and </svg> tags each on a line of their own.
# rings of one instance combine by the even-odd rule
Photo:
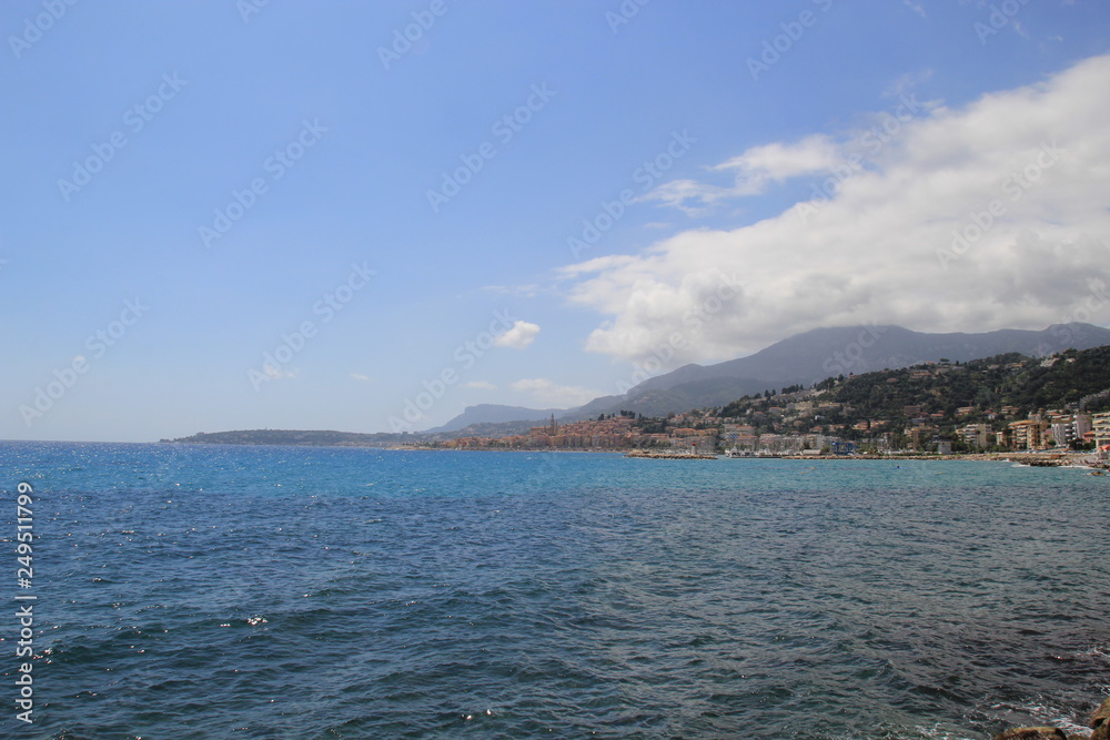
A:
<svg viewBox="0 0 1110 740">
<path fill-rule="evenodd" d="M 888 114 L 877 136 L 748 150 L 716 168 L 737 172 L 727 193 L 683 181 L 669 192 L 686 207 L 801 175 L 837 187 L 757 223 L 688 230 L 638 255 L 566 267 L 572 302 L 606 316 L 587 349 L 644 357 L 680 332 L 678 359 L 706 362 L 818 326 L 988 331 L 1067 320 L 1090 280 L 1110 282 L 1110 97 L 1096 92 L 1108 88 L 1110 57 L 1098 57 L 960 110 Z M 976 220 L 991 223 L 953 249 L 953 232 L 976 236 Z M 699 318 L 720 275 L 736 292 Z"/>
</svg>

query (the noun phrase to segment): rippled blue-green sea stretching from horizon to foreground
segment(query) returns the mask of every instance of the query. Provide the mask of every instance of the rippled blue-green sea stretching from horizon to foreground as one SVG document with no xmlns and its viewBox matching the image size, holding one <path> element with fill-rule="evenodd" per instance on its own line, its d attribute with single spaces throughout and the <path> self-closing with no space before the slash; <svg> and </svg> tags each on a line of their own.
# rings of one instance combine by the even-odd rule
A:
<svg viewBox="0 0 1110 740">
<path fill-rule="evenodd" d="M 0 736 L 987 738 L 1110 693 L 1110 477 L 0 444 Z M 16 487 L 34 579 L 16 587 Z"/>
</svg>

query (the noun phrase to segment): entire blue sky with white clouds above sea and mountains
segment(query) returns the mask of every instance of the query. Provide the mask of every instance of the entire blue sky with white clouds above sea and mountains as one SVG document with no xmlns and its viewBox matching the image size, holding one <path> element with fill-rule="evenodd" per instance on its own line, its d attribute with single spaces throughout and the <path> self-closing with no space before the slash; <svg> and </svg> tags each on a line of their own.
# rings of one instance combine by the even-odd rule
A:
<svg viewBox="0 0 1110 740">
<path fill-rule="evenodd" d="M 0 438 L 1110 322 L 1104 2 L 640 2 L 3 3 Z"/>
</svg>

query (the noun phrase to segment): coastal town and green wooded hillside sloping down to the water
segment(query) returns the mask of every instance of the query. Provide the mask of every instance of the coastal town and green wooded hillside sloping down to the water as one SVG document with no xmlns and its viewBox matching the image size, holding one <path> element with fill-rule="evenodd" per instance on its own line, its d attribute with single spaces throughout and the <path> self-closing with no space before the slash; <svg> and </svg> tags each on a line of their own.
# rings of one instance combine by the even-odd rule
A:
<svg viewBox="0 0 1110 740">
<path fill-rule="evenodd" d="M 663 417 L 552 417 L 526 434 L 405 446 L 656 449 L 753 455 L 976 453 L 1110 446 L 1110 347 L 1046 358 L 999 355 L 830 377 Z"/>
</svg>

